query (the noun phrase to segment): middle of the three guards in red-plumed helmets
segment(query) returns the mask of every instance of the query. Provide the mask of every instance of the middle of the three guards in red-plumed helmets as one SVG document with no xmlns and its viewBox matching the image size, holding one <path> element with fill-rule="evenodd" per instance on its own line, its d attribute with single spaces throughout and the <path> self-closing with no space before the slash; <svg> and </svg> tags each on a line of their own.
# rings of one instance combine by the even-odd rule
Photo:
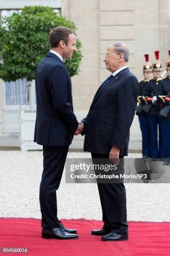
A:
<svg viewBox="0 0 170 256">
<path fill-rule="evenodd" d="M 145 87 L 143 87 L 143 96 L 147 101 L 145 110 L 148 111 L 148 120 L 151 138 L 151 157 L 158 159 L 163 158 L 163 128 L 159 118 L 158 102 L 153 102 L 153 97 L 156 95 L 158 82 L 162 79 L 162 64 L 159 61 L 159 51 L 155 51 L 156 60 L 153 65 L 153 79 L 151 79 Z M 149 107 L 149 108 L 148 108 Z M 143 108 L 143 109 L 144 109 Z M 159 148 L 158 148 L 158 128 L 159 128 Z"/>
</svg>

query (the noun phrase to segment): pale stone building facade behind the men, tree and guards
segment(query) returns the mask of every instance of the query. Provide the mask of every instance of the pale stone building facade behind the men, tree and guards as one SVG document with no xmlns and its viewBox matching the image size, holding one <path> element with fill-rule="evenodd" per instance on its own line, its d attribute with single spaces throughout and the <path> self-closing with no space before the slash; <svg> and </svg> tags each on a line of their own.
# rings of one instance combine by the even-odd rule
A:
<svg viewBox="0 0 170 256">
<path fill-rule="evenodd" d="M 75 22 L 83 54 L 80 73 L 72 77 L 73 104 L 79 119 L 85 117 L 97 88 L 110 75 L 103 63 L 110 42 L 127 44 L 130 49 L 129 67 L 139 80 L 143 78 L 144 54 L 150 54 L 153 62 L 154 51 L 160 50 L 160 61 L 165 68 L 170 49 L 170 0 L 0 0 L 1 15 L 7 10 L 8 13 L 12 9 L 20 10 L 25 5 L 48 5 Z M 27 85 L 30 96 L 25 110 L 35 111 L 34 84 Z M 20 108 L 17 103 L 7 105 L 10 93 L 7 86 L 0 80 L 0 135 L 20 133 Z M 140 138 L 135 116 L 130 139 Z"/>
</svg>

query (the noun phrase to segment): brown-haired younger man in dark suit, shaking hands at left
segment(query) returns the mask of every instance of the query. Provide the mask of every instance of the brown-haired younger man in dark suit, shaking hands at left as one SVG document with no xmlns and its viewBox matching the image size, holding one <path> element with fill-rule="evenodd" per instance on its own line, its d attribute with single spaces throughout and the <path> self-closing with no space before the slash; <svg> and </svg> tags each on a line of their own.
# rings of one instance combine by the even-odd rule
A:
<svg viewBox="0 0 170 256">
<path fill-rule="evenodd" d="M 76 33 L 66 27 L 50 32 L 50 52 L 36 69 L 37 116 L 34 141 L 43 145 L 43 172 L 40 183 L 42 238 L 78 238 L 57 218 L 58 189 L 73 134 L 82 131 L 73 113 L 71 80 L 63 59 L 76 51 Z"/>
</svg>

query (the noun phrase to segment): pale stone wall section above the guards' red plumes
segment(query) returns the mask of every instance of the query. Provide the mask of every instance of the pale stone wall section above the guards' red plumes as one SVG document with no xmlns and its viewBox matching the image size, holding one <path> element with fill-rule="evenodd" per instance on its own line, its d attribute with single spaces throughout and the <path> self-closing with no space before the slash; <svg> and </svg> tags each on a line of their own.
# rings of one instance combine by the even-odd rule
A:
<svg viewBox="0 0 170 256">
<path fill-rule="evenodd" d="M 142 66 L 144 54 L 150 54 L 150 62 L 155 61 L 155 50 L 160 51 L 160 61 L 165 69 L 170 49 L 170 0 L 136 0 L 135 38 L 136 70 L 135 74 L 143 79 Z"/>
</svg>

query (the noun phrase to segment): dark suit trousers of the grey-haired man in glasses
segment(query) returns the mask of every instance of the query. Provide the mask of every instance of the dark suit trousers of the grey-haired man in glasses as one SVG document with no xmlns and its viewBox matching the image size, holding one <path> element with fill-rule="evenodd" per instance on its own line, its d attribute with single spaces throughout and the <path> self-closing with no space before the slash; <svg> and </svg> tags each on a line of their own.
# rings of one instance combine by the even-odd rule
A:
<svg viewBox="0 0 170 256">
<path fill-rule="evenodd" d="M 93 164 L 97 164 L 97 159 L 109 159 L 107 154 L 91 153 L 91 156 Z M 123 158 L 123 156 L 119 157 Z M 124 184 L 97 183 L 97 186 L 102 207 L 103 228 L 107 228 L 120 235 L 128 234 L 126 190 Z"/>
</svg>

